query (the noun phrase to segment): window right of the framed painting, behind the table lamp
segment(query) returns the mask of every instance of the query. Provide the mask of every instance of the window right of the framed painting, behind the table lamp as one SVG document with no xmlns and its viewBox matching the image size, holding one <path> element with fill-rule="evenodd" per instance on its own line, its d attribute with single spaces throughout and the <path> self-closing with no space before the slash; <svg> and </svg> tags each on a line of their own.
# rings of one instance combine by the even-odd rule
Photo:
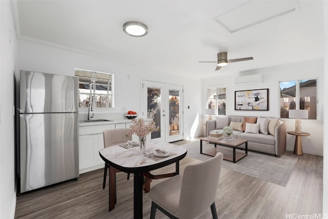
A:
<svg viewBox="0 0 328 219">
<path fill-rule="evenodd" d="M 289 118 L 290 109 L 307 109 L 317 119 L 317 79 L 281 81 L 280 118 Z"/>
</svg>

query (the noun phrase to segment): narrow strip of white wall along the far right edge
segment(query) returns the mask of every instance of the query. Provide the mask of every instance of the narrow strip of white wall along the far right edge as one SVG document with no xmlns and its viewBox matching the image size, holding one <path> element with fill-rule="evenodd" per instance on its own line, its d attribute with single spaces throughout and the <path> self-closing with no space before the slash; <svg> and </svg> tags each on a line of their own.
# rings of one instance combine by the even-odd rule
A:
<svg viewBox="0 0 328 219">
<path fill-rule="evenodd" d="M 323 2 L 323 16 L 324 16 L 324 75 L 323 84 L 325 84 L 323 93 L 324 95 L 324 122 L 323 122 L 323 202 L 322 214 L 324 218 L 328 218 L 328 2 Z"/>
</svg>

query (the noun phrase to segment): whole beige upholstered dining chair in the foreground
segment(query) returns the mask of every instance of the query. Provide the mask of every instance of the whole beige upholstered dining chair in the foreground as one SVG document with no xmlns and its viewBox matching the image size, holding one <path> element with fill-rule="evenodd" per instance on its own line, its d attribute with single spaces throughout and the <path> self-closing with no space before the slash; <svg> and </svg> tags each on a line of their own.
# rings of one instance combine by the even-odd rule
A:
<svg viewBox="0 0 328 219">
<path fill-rule="evenodd" d="M 220 178 L 223 154 L 199 164 L 186 167 L 183 174 L 169 178 L 153 186 L 150 218 L 156 209 L 170 218 L 195 218 L 211 206 L 213 218 L 217 218 L 215 198 Z"/>
</svg>

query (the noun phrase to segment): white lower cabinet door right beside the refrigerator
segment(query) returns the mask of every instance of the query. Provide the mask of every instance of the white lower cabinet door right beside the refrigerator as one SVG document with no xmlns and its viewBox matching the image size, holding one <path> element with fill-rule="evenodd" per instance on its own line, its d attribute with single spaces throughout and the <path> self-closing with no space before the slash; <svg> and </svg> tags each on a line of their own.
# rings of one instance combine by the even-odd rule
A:
<svg viewBox="0 0 328 219">
<path fill-rule="evenodd" d="M 79 136 L 79 169 L 98 165 L 98 134 Z"/>
</svg>

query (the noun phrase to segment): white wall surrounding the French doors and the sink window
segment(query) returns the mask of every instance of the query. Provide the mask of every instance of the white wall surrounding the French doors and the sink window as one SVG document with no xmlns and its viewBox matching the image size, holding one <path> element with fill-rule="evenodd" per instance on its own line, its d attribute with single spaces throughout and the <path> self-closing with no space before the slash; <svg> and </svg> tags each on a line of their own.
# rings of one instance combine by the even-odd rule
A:
<svg viewBox="0 0 328 219">
<path fill-rule="evenodd" d="M 76 52 L 28 40 L 18 41 L 18 70 L 74 75 L 74 68 L 114 74 L 115 108 L 110 113 L 141 112 L 141 81 L 152 80 L 183 86 L 184 138 L 201 135 L 201 82 L 181 78 L 160 70 L 131 65 L 120 60 Z M 129 77 L 128 77 L 129 75 Z M 186 109 L 187 106 L 190 109 Z M 95 112 L 97 113 L 104 113 Z"/>
</svg>

